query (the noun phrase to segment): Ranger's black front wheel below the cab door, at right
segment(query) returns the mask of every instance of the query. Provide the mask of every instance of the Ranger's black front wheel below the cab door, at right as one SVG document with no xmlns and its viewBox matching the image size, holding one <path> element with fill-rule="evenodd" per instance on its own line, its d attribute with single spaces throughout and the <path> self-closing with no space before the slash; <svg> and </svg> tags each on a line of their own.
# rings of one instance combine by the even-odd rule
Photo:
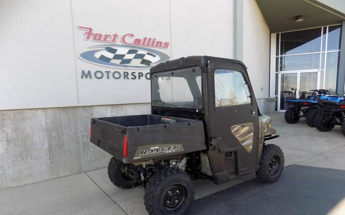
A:
<svg viewBox="0 0 345 215">
<path fill-rule="evenodd" d="M 273 183 L 281 176 L 284 169 L 284 154 L 279 146 L 274 144 L 265 145 L 260 160 L 257 177 L 263 183 Z"/>
</svg>

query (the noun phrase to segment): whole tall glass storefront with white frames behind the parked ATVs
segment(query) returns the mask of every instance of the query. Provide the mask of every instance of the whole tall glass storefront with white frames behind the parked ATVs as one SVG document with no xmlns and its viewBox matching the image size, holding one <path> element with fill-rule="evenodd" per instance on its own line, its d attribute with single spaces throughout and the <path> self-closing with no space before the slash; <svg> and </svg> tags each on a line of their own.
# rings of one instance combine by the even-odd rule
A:
<svg viewBox="0 0 345 215">
<path fill-rule="evenodd" d="M 276 110 L 287 98 L 308 98 L 316 89 L 336 93 L 341 25 L 282 32 L 275 35 Z M 272 52 L 273 52 L 272 51 Z M 273 66 L 271 67 L 273 69 Z"/>
</svg>

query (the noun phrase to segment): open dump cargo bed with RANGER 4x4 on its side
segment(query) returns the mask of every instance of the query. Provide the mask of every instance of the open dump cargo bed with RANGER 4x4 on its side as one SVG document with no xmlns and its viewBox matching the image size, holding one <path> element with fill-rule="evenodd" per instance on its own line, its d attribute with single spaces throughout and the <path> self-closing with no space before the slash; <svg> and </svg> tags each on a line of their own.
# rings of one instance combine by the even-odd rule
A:
<svg viewBox="0 0 345 215">
<path fill-rule="evenodd" d="M 93 118 L 90 142 L 126 164 L 206 149 L 202 121 L 151 114 Z"/>
</svg>

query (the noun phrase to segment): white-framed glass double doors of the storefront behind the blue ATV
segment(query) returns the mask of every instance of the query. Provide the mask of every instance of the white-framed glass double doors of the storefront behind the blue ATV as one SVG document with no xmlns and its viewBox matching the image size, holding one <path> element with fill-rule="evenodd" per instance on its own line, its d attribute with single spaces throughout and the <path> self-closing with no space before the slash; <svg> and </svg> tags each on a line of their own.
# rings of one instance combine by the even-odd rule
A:
<svg viewBox="0 0 345 215">
<path fill-rule="evenodd" d="M 310 98 L 311 90 L 319 88 L 318 70 L 284 71 L 279 73 L 279 111 L 286 110 L 286 99 Z"/>
</svg>

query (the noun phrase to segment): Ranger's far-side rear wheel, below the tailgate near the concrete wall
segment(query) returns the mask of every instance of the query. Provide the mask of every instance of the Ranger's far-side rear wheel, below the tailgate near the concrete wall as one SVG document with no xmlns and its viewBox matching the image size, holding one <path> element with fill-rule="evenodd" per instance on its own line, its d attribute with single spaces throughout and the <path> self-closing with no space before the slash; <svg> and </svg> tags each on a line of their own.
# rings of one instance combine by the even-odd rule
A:
<svg viewBox="0 0 345 215">
<path fill-rule="evenodd" d="M 125 164 L 121 160 L 112 157 L 108 166 L 108 176 L 110 181 L 117 187 L 128 189 L 133 187 L 134 167 Z"/>
</svg>

